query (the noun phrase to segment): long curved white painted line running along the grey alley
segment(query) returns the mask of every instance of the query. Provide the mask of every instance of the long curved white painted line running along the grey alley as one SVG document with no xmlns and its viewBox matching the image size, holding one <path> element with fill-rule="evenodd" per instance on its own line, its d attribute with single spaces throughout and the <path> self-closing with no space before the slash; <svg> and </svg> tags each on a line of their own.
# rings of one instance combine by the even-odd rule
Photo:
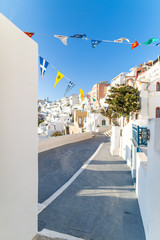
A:
<svg viewBox="0 0 160 240">
<path fill-rule="evenodd" d="M 59 188 L 53 195 L 51 195 L 47 200 L 41 203 L 38 214 L 42 212 L 51 202 L 53 202 L 66 188 L 68 188 L 71 183 L 83 172 L 83 170 L 90 164 L 94 157 L 99 153 L 104 143 L 101 143 L 93 155 L 83 164 L 83 166 L 66 182 L 61 188 Z"/>
</svg>

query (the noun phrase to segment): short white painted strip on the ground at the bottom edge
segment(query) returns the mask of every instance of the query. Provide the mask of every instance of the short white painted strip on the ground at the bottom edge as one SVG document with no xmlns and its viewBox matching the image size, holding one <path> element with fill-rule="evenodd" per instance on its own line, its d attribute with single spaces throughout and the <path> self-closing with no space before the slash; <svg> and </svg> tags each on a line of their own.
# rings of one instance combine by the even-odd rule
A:
<svg viewBox="0 0 160 240">
<path fill-rule="evenodd" d="M 64 240 L 82 240 L 82 238 L 77 238 L 77 237 L 73 237 L 68 234 L 50 231 L 45 228 L 41 232 L 38 232 L 38 233 L 42 236 L 50 237 L 50 238 L 60 238 L 60 239 L 64 239 Z M 85 240 L 85 239 L 83 238 L 83 240 Z"/>
</svg>

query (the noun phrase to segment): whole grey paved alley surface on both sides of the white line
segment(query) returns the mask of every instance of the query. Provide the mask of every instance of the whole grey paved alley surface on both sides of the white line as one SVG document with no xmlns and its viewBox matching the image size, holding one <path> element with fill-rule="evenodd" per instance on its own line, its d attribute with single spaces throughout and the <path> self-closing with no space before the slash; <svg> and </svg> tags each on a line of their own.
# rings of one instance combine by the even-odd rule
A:
<svg viewBox="0 0 160 240">
<path fill-rule="evenodd" d="M 104 135 L 40 154 L 40 203 L 65 184 L 101 143 L 89 165 L 39 214 L 39 231 L 86 240 L 145 240 L 130 169 L 123 159 L 111 156 Z"/>
</svg>

